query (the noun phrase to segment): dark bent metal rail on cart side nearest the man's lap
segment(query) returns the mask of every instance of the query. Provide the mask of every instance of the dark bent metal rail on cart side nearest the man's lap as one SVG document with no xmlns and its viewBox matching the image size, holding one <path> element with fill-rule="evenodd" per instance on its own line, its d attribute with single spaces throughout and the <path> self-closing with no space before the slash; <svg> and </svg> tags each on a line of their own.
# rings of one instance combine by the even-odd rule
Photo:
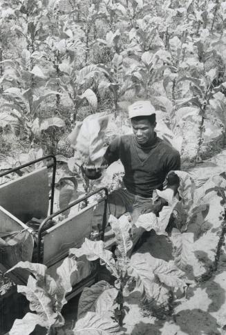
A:
<svg viewBox="0 0 226 335">
<path fill-rule="evenodd" d="M 43 260 L 41 260 L 41 236 L 42 236 L 42 233 L 44 233 L 44 226 L 46 225 L 46 222 L 48 222 L 49 220 L 52 220 L 53 218 L 55 218 L 55 216 L 58 216 L 59 214 L 63 213 L 67 209 L 70 209 L 71 207 L 75 206 L 76 204 L 79 204 L 79 202 L 82 202 L 82 201 L 90 198 L 92 195 L 94 195 L 96 193 L 99 193 L 101 191 L 105 192 L 104 213 L 103 213 L 102 233 L 101 233 L 101 239 L 104 240 L 104 231 L 105 231 L 105 228 L 106 228 L 106 207 L 107 207 L 107 204 L 108 204 L 109 190 L 106 187 L 101 187 L 100 189 L 97 189 L 96 191 L 93 191 L 91 193 L 88 193 L 88 194 L 84 195 L 82 198 L 79 198 L 78 200 L 70 202 L 70 204 L 68 204 L 67 207 L 65 207 L 64 209 L 61 209 L 61 210 L 57 211 L 56 213 L 48 216 L 48 218 L 46 218 L 43 222 L 41 222 L 41 224 L 39 226 L 39 230 L 38 230 L 38 236 L 37 236 L 37 262 L 38 263 L 43 262 Z"/>
</svg>

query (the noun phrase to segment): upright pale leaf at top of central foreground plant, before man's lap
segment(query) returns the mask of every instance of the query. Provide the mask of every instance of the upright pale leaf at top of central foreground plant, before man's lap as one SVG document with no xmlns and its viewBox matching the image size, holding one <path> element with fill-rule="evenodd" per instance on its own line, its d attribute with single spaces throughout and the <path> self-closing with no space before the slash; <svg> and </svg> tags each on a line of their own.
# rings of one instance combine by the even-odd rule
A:
<svg viewBox="0 0 226 335">
<path fill-rule="evenodd" d="M 109 223 L 113 233 L 115 234 L 115 240 L 117 243 L 117 249 L 123 258 L 127 256 L 127 253 L 133 247 L 133 242 L 131 240 L 131 223 L 127 216 L 121 216 L 116 219 L 114 216 L 110 216 Z"/>
</svg>

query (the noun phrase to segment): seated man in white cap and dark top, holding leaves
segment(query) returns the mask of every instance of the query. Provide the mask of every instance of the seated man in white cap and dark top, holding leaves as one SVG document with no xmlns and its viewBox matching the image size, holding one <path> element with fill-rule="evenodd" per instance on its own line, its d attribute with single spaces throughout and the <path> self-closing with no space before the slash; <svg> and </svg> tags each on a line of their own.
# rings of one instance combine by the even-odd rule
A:
<svg viewBox="0 0 226 335">
<path fill-rule="evenodd" d="M 154 131 L 156 111 L 149 101 L 138 101 L 129 106 L 133 134 L 116 137 L 106 149 L 104 164 L 121 160 L 124 166 L 124 188 L 109 195 L 109 213 L 119 218 L 130 212 L 133 222 L 140 214 L 162 208 L 160 201 L 153 202 L 154 189 L 162 190 L 167 173 L 180 170 L 180 154 Z M 97 218 L 99 216 L 99 218 Z M 101 222 L 100 208 L 94 221 Z"/>
</svg>

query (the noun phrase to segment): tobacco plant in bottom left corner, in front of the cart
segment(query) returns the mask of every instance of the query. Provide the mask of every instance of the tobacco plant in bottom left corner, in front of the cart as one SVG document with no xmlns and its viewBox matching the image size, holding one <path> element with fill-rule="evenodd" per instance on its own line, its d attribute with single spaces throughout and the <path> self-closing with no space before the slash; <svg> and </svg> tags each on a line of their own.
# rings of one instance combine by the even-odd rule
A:
<svg viewBox="0 0 226 335">
<path fill-rule="evenodd" d="M 66 304 L 66 294 L 72 289 L 71 278 L 79 270 L 79 262 L 65 258 L 57 268 L 55 278 L 48 274 L 46 265 L 39 263 L 19 262 L 8 272 L 15 269 L 28 271 L 27 285 L 17 285 L 17 291 L 26 296 L 32 313 L 16 319 L 9 334 L 29 335 L 37 325 L 45 327 L 47 334 L 55 334 L 54 330 L 64 325 L 61 311 Z"/>
</svg>

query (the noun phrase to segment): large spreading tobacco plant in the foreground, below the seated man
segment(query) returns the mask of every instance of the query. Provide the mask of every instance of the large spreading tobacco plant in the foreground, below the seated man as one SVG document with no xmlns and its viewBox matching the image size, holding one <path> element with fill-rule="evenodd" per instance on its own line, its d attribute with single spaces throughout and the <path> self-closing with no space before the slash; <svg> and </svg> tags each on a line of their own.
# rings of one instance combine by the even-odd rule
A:
<svg viewBox="0 0 226 335">
<path fill-rule="evenodd" d="M 125 305 L 126 291 L 128 292 L 133 281 L 142 300 L 146 300 L 149 305 L 161 305 L 164 300 L 162 296 L 169 292 L 169 288 L 184 288 L 187 284 L 185 274 L 173 262 L 153 258 L 150 253 L 135 252 L 131 255 L 141 228 L 156 229 L 157 233 L 164 233 L 165 220 L 162 217 L 157 224 L 149 222 L 149 214 L 140 216 L 135 225 L 129 222 L 128 216 L 122 216 L 119 220 L 110 216 L 109 222 L 117 245 L 115 255 L 104 247 L 104 242 L 88 239 L 81 248 L 70 249 L 70 254 L 76 257 L 85 255 L 90 261 L 100 259 L 100 263 L 106 266 L 115 280 L 113 285 L 100 281 L 93 287 L 84 289 L 79 300 L 78 317 L 87 312 L 99 312 L 102 316 L 110 313 L 122 326 L 128 309 Z"/>
</svg>

